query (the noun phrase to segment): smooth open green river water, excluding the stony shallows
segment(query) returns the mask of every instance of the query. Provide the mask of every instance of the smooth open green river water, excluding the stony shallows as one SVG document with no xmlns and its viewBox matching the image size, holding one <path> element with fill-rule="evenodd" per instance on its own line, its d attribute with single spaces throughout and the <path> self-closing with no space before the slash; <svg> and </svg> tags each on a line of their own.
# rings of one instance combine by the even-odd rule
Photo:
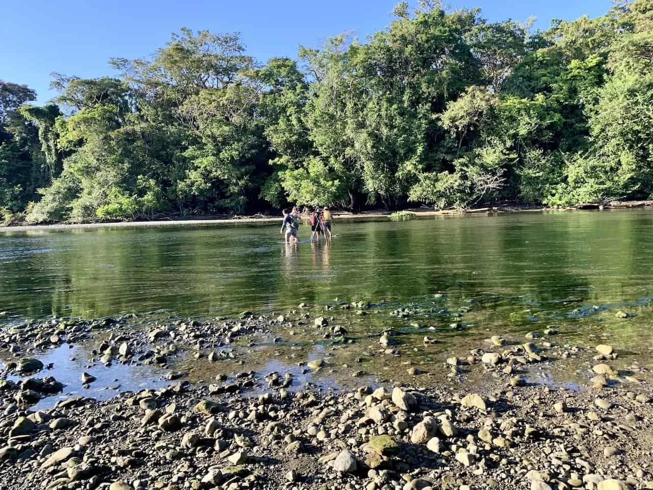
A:
<svg viewBox="0 0 653 490">
<path fill-rule="evenodd" d="M 0 311 L 208 317 L 445 293 L 456 304 L 564 314 L 565 299 L 584 307 L 653 295 L 647 210 L 340 221 L 334 233 L 330 246 L 285 246 L 276 225 L 10 231 L 0 234 Z"/>
</svg>

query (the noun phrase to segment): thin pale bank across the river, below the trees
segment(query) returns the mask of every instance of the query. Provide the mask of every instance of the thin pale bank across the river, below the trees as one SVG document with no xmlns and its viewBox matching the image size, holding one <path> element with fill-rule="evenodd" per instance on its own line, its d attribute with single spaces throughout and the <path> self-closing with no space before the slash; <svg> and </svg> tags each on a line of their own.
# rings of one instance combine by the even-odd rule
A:
<svg viewBox="0 0 653 490">
<path fill-rule="evenodd" d="M 407 208 L 401 211 L 389 211 L 383 209 L 362 211 L 358 213 L 336 211 L 333 213 L 334 220 L 381 220 L 396 216 L 397 218 L 429 218 L 435 216 L 464 216 L 466 214 L 501 214 L 515 212 L 558 212 L 572 210 L 620 210 L 633 208 L 650 208 L 653 201 L 611 201 L 610 203 L 582 203 L 577 206 L 567 206 L 564 208 L 550 208 L 546 206 L 489 206 L 482 208 L 470 208 L 467 210 L 448 209 L 433 210 L 429 208 Z M 306 217 L 308 220 L 308 216 Z M 238 225 L 238 224 L 256 224 L 256 223 L 277 223 L 280 222 L 279 216 L 266 216 L 257 214 L 254 216 L 232 216 L 229 218 L 210 217 L 210 218 L 164 218 L 160 220 L 125 220 L 125 221 L 100 221 L 93 223 L 53 223 L 48 225 L 30 225 L 25 222 L 16 223 L 15 225 L 0 226 L 0 233 L 17 230 L 66 230 L 66 229 L 102 229 L 102 228 L 133 228 L 133 227 L 190 227 L 205 225 Z"/>
</svg>

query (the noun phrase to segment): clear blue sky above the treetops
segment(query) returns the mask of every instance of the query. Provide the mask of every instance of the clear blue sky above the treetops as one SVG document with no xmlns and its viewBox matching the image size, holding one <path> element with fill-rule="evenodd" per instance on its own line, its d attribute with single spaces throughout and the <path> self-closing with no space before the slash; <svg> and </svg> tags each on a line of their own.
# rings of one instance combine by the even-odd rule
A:
<svg viewBox="0 0 653 490">
<path fill-rule="evenodd" d="M 0 0 L 0 78 L 50 91 L 53 71 L 81 77 L 114 74 L 110 57 L 148 57 L 180 27 L 238 31 L 258 61 L 296 56 L 300 44 L 345 31 L 358 37 L 386 27 L 398 0 Z M 491 21 L 596 17 L 610 0 L 451 0 L 453 8 L 481 7 Z M 411 3 L 413 5 L 413 3 Z"/>
</svg>

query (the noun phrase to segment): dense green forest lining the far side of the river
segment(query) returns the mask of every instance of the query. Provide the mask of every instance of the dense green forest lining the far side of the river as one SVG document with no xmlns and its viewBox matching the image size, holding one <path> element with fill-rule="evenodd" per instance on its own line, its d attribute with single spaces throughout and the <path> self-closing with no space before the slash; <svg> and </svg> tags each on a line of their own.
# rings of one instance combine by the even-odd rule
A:
<svg viewBox="0 0 653 490">
<path fill-rule="evenodd" d="M 0 218 L 30 223 L 653 193 L 653 0 L 605 16 L 396 19 L 261 64 L 238 34 L 181 29 L 119 76 L 0 80 Z M 15 82 L 20 82 L 16 80 Z"/>
</svg>

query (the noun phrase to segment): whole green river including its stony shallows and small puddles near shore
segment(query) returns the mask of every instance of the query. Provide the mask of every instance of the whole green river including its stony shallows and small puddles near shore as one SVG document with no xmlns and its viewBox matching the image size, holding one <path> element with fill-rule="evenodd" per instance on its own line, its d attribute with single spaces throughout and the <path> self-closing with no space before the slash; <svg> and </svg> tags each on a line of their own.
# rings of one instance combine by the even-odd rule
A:
<svg viewBox="0 0 653 490">
<path fill-rule="evenodd" d="M 357 339 L 338 363 L 354 364 L 390 327 L 415 345 L 402 359 L 422 364 L 464 355 L 490 335 L 523 339 L 551 324 L 569 342 L 610 338 L 624 355 L 651 345 L 648 210 L 343 220 L 334 234 L 330 245 L 287 246 L 276 225 L 0 233 L 0 321 L 153 311 L 207 319 L 364 301 L 368 315 L 354 307 L 337 320 Z M 300 237 L 309 235 L 304 225 Z M 616 318 L 620 310 L 629 318 Z M 455 321 L 465 328 L 449 328 Z M 297 346 L 310 346 L 308 358 L 328 349 L 311 332 L 276 334 L 276 343 L 244 350 L 238 367 L 289 370 Z M 425 349 L 424 335 L 442 341 Z M 388 367 L 377 362 L 366 370 L 378 377 Z M 125 376 L 114 372 L 103 387 Z"/>
</svg>

